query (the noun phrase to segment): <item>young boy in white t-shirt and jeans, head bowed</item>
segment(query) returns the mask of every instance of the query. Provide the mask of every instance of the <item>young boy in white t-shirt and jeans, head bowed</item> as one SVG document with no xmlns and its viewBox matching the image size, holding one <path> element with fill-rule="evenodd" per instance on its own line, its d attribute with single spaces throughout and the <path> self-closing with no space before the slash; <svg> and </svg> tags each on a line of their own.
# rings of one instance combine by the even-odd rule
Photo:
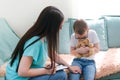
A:
<svg viewBox="0 0 120 80">
<path fill-rule="evenodd" d="M 75 56 L 72 65 L 79 66 L 82 70 L 84 80 L 94 80 L 96 67 L 94 61 L 94 54 L 99 52 L 99 39 L 94 30 L 88 28 L 84 20 L 76 20 L 73 25 L 74 33 L 71 36 L 71 54 Z M 86 54 L 90 48 L 80 47 L 76 48 L 78 39 L 88 38 L 90 43 L 93 43 L 94 54 L 88 57 L 78 57 L 78 54 Z M 70 73 L 70 80 L 80 80 L 80 73 Z"/>
</svg>

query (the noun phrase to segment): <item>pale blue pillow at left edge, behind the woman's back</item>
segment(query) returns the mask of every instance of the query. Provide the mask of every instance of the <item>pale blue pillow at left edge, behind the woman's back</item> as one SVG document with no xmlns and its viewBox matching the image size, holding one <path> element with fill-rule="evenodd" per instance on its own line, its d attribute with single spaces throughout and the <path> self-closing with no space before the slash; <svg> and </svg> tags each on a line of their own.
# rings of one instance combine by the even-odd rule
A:
<svg viewBox="0 0 120 80">
<path fill-rule="evenodd" d="M 7 21 L 0 19 L 0 59 L 7 61 L 19 41 L 19 37 L 10 28 Z"/>
</svg>

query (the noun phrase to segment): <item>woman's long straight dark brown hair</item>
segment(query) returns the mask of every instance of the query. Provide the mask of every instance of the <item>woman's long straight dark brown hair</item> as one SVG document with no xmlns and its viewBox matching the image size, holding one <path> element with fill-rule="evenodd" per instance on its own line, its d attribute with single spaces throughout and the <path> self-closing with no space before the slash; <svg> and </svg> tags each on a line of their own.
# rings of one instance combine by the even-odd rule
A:
<svg viewBox="0 0 120 80">
<path fill-rule="evenodd" d="M 51 59 L 51 65 L 55 65 L 55 51 L 58 49 L 59 43 L 59 29 L 60 25 L 64 19 L 63 13 L 53 7 L 48 6 L 46 7 L 41 14 L 39 15 L 36 23 L 24 34 L 24 36 L 18 42 L 12 56 L 10 65 L 12 66 L 17 56 L 19 57 L 19 62 L 17 65 L 16 72 L 18 72 L 19 63 L 23 52 L 26 48 L 40 40 L 42 37 L 46 37 L 48 42 L 48 55 Z M 33 41 L 29 44 L 25 49 L 24 45 L 26 41 L 31 39 L 33 36 L 39 36 L 39 39 Z M 51 67 L 52 67 L 51 66 Z"/>
</svg>

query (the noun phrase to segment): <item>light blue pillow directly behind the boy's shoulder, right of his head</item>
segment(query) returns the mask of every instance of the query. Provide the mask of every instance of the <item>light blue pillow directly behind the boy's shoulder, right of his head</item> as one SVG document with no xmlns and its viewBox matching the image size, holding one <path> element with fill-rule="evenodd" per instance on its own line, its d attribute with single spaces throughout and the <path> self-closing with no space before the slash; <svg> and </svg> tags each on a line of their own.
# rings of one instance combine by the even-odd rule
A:
<svg viewBox="0 0 120 80">
<path fill-rule="evenodd" d="M 108 50 L 107 44 L 107 30 L 106 26 L 104 25 L 104 19 L 97 19 L 97 20 L 86 20 L 90 29 L 96 31 L 98 38 L 100 40 L 100 50 L 105 51 Z"/>
</svg>

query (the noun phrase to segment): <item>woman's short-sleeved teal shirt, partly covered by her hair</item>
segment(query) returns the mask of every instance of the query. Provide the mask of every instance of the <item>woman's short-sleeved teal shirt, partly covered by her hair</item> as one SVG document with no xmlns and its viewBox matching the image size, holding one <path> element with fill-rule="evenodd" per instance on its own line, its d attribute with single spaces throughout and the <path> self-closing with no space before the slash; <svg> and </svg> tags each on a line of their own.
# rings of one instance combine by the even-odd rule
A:
<svg viewBox="0 0 120 80">
<path fill-rule="evenodd" d="M 25 43 L 25 47 L 27 47 L 30 43 L 38 39 L 38 36 L 32 37 Z M 33 62 L 31 68 L 42 68 L 45 67 L 45 62 L 47 60 L 47 42 L 39 40 L 36 43 L 32 44 L 28 48 L 25 49 L 23 56 L 31 56 L 33 58 Z M 18 57 L 14 61 L 12 67 L 10 66 L 10 62 L 6 67 L 6 79 L 7 80 L 28 80 L 28 77 L 21 77 L 16 72 L 16 68 L 18 65 Z"/>
</svg>

